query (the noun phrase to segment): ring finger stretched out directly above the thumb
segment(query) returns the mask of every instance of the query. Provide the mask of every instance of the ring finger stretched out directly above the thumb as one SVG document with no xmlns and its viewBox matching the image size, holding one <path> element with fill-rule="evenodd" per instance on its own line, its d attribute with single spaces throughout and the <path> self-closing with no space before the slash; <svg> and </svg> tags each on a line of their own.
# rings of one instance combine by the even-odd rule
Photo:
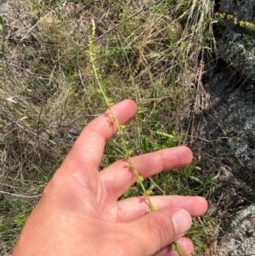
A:
<svg viewBox="0 0 255 256">
<path fill-rule="evenodd" d="M 150 196 L 150 200 L 157 209 L 183 208 L 191 216 L 201 216 L 207 211 L 207 201 L 201 196 Z M 133 197 L 119 201 L 118 220 L 125 222 L 138 219 L 148 213 L 150 208 L 144 197 Z"/>
</svg>

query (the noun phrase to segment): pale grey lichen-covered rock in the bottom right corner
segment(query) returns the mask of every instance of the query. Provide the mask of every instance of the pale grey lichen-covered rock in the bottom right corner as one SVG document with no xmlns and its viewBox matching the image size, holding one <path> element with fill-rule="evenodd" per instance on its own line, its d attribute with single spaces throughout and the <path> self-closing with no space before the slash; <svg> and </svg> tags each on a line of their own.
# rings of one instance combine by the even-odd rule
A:
<svg viewBox="0 0 255 256">
<path fill-rule="evenodd" d="M 229 229 L 218 247 L 218 255 L 255 255 L 255 204 L 241 210 L 231 220 Z"/>
</svg>

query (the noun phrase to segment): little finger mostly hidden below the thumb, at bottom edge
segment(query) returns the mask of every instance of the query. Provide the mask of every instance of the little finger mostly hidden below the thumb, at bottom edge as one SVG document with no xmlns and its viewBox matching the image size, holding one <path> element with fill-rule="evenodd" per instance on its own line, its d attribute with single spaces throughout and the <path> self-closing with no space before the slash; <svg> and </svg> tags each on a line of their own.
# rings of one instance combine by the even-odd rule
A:
<svg viewBox="0 0 255 256">
<path fill-rule="evenodd" d="M 180 237 L 176 241 L 178 242 L 178 246 L 184 255 L 190 255 L 193 252 L 193 243 L 187 237 Z M 153 256 L 179 256 L 176 250 L 173 250 L 171 245 L 161 249 L 160 252 L 155 253 Z"/>
</svg>

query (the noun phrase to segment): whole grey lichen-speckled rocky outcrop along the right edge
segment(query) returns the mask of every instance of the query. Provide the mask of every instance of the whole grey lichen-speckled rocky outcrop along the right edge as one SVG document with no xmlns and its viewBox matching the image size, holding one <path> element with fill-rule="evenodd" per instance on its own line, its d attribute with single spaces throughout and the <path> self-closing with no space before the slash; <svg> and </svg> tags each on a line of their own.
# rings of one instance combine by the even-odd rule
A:
<svg viewBox="0 0 255 256">
<path fill-rule="evenodd" d="M 255 202 L 255 96 L 252 82 L 247 82 L 255 81 L 255 29 L 240 26 L 240 22 L 255 23 L 255 1 L 221 0 L 219 12 L 235 20 L 224 19 L 218 24 L 217 54 L 239 75 L 229 69 L 216 70 L 211 91 L 213 112 L 204 117 L 202 129 L 210 127 L 210 136 L 203 132 L 201 136 L 216 139 L 215 158 L 221 160 L 214 204 L 218 219 L 227 227 L 219 237 L 218 255 L 250 256 L 255 255 L 255 204 L 243 206 Z M 220 134 L 225 139 L 217 139 Z"/>
</svg>

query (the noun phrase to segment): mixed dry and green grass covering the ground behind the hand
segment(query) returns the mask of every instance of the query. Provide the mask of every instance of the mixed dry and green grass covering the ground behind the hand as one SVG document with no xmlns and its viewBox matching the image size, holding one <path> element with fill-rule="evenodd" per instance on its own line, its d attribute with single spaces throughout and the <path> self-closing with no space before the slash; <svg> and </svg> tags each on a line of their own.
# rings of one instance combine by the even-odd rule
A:
<svg viewBox="0 0 255 256">
<path fill-rule="evenodd" d="M 137 117 L 125 128 L 137 155 L 188 144 L 190 120 L 207 107 L 200 86 L 203 60 L 213 47 L 213 1 L 24 0 L 2 8 L 0 252 L 8 255 L 82 127 L 107 107 L 89 63 L 92 20 L 107 98 L 138 104 Z M 121 157 L 111 139 L 101 168 Z M 156 195 L 210 199 L 215 177 L 200 178 L 197 161 L 144 185 Z M 123 198 L 140 194 L 134 185 Z M 204 237 L 214 228 L 209 215 L 194 221 L 188 236 L 195 255 L 204 255 Z"/>
</svg>

